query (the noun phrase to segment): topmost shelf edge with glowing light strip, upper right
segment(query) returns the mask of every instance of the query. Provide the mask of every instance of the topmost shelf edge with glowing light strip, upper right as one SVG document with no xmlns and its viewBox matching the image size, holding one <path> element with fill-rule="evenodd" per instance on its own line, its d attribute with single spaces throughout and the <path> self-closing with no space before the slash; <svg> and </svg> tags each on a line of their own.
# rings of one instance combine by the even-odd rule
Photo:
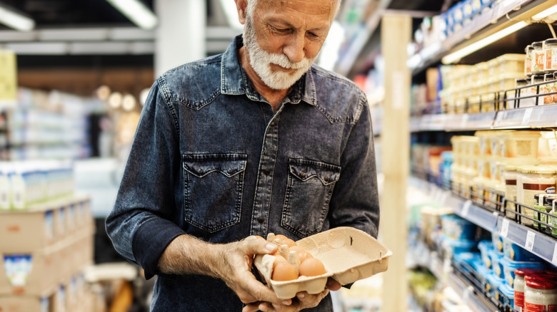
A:
<svg viewBox="0 0 557 312">
<path fill-rule="evenodd" d="M 506 0 L 493 9 L 484 11 L 471 24 L 451 34 L 445 41 L 430 48 L 424 48 L 408 59 L 413 75 L 441 61 L 451 51 L 456 51 L 471 43 L 491 36 L 518 21 L 527 21 L 554 3 L 550 0 Z M 472 39 L 471 39 L 472 38 Z"/>
</svg>

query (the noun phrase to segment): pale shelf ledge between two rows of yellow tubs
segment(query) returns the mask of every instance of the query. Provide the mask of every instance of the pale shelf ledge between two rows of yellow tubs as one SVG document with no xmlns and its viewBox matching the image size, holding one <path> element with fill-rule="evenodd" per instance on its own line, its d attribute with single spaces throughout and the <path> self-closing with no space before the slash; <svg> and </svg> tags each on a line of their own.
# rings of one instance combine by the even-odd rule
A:
<svg viewBox="0 0 557 312">
<path fill-rule="evenodd" d="M 436 114 L 410 118 L 410 130 L 470 131 L 518 128 L 555 128 L 557 105 L 538 105 L 476 114 Z"/>
</svg>

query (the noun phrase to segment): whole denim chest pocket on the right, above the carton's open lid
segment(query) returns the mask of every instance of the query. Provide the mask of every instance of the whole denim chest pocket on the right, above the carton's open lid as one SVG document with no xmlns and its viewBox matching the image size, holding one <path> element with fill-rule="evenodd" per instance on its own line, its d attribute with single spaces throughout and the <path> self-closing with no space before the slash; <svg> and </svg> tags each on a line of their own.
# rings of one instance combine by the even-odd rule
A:
<svg viewBox="0 0 557 312">
<path fill-rule="evenodd" d="M 281 226 L 300 237 L 321 231 L 341 167 L 290 159 Z"/>
</svg>

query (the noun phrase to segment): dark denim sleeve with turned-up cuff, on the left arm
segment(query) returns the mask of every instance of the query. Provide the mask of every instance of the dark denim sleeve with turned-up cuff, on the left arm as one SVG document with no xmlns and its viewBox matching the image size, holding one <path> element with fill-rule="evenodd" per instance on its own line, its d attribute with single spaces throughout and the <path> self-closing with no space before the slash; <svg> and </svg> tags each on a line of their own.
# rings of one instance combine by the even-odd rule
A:
<svg viewBox="0 0 557 312">
<path fill-rule="evenodd" d="M 166 246 L 184 234 L 176 213 L 175 187 L 180 178 L 177 120 L 154 83 L 131 147 L 106 232 L 116 251 L 136 262 L 150 278 Z"/>
</svg>

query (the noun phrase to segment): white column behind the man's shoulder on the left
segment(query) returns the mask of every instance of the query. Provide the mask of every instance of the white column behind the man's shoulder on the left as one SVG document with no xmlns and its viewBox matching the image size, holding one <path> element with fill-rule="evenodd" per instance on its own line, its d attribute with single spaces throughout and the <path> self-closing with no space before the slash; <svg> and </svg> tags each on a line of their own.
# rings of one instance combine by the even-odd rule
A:
<svg viewBox="0 0 557 312">
<path fill-rule="evenodd" d="M 156 29 L 154 71 L 161 73 L 206 56 L 206 1 L 155 0 Z"/>
</svg>

